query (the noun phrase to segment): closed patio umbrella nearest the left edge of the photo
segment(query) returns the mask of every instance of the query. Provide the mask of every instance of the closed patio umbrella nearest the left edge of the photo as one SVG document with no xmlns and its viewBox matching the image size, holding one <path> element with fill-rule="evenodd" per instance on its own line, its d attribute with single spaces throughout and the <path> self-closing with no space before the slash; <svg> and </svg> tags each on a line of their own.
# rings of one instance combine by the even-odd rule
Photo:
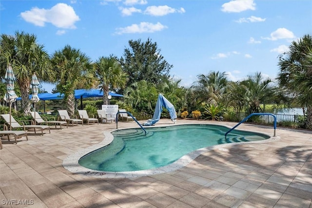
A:
<svg viewBox="0 0 312 208">
<path fill-rule="evenodd" d="M 18 96 L 15 94 L 15 91 L 14 91 L 15 76 L 14 76 L 11 64 L 9 64 L 6 69 L 4 80 L 6 82 L 6 93 L 4 95 L 4 101 L 9 103 L 10 130 L 12 130 L 12 127 L 11 127 L 12 103 L 15 102 L 15 99 L 17 99 Z"/>
</svg>

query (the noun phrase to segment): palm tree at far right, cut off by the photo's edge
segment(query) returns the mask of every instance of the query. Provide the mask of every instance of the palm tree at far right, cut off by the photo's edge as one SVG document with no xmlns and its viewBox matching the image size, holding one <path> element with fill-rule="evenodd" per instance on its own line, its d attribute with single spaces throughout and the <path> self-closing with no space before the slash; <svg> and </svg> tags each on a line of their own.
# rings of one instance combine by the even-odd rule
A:
<svg viewBox="0 0 312 208">
<path fill-rule="evenodd" d="M 289 51 L 279 57 L 277 80 L 302 107 L 307 107 L 307 128 L 312 129 L 312 37 L 293 41 Z"/>
</svg>

